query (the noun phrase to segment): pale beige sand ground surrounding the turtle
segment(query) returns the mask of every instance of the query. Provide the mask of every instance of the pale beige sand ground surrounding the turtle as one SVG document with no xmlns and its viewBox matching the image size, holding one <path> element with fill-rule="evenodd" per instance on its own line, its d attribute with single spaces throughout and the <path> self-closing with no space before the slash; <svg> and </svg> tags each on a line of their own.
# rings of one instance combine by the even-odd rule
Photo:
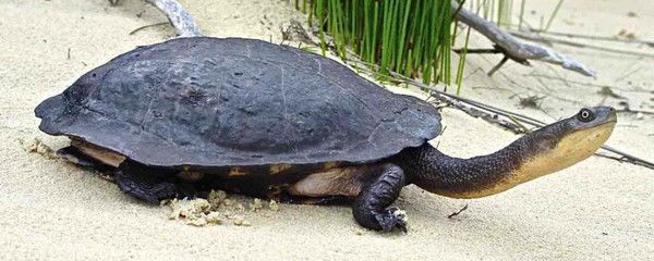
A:
<svg viewBox="0 0 654 261">
<path fill-rule="evenodd" d="M 407 235 L 363 229 L 347 207 L 280 204 L 279 211 L 244 210 L 240 214 L 250 226 L 195 227 L 169 220 L 168 207 L 134 200 L 96 173 L 45 157 L 47 147 L 61 148 L 66 141 L 38 132 L 33 113 L 38 102 L 94 66 L 171 36 L 166 26 L 129 35 L 166 18 L 142 1 L 121 2 L 118 7 L 109 7 L 106 0 L 0 2 L 1 260 L 654 258 L 654 171 L 598 157 L 483 199 L 449 199 L 409 186 L 397 201 L 409 214 Z M 240 2 L 182 1 L 210 36 L 279 42 L 279 25 L 302 20 L 288 1 Z M 529 3 L 532 24 L 554 9 L 552 1 Z M 635 17 L 628 15 L 630 11 Z M 608 36 L 626 29 L 651 40 L 654 33 L 646 25 L 654 23 L 653 13 L 647 0 L 566 1 L 552 28 Z M 475 37 L 473 45 L 482 47 L 486 41 Z M 654 52 L 646 46 L 607 45 Z M 548 122 L 600 103 L 628 101 L 632 109 L 653 110 L 654 59 L 555 48 L 598 70 L 598 77 L 513 63 L 488 78 L 482 70 L 489 70 L 499 57 L 476 55 L 468 61 L 462 95 Z M 570 82 L 614 86 L 613 91 L 626 100 L 605 98 L 597 94 L 600 87 Z M 533 95 L 546 97 L 542 109 L 519 105 L 519 97 Z M 492 152 L 518 137 L 452 109 L 443 110 L 443 116 L 447 129 L 433 144 L 453 156 Z M 607 144 L 653 160 L 653 122 L 652 115 L 620 114 Z M 43 145 L 33 146 L 35 138 Z M 447 217 L 465 204 L 468 210 Z"/>
</svg>

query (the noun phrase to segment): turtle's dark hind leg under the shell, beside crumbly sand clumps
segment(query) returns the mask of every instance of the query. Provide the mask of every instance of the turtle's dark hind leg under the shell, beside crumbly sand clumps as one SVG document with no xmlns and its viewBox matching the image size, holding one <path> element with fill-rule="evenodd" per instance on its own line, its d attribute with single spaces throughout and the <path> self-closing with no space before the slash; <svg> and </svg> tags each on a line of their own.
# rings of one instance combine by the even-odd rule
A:
<svg viewBox="0 0 654 261">
<path fill-rule="evenodd" d="M 113 181 L 125 194 L 149 203 L 174 197 L 195 196 L 192 184 L 184 183 L 170 171 L 147 167 L 136 162 L 125 161 L 113 173 Z"/>
</svg>

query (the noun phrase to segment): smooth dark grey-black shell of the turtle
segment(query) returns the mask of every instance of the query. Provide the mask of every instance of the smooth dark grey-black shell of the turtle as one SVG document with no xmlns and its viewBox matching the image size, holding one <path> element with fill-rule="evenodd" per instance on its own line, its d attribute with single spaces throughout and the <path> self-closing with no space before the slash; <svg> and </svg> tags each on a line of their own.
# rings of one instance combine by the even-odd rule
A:
<svg viewBox="0 0 654 261">
<path fill-rule="evenodd" d="M 427 102 L 322 55 L 240 38 L 140 47 L 35 112 L 45 133 L 156 166 L 371 162 L 440 130 Z"/>
</svg>

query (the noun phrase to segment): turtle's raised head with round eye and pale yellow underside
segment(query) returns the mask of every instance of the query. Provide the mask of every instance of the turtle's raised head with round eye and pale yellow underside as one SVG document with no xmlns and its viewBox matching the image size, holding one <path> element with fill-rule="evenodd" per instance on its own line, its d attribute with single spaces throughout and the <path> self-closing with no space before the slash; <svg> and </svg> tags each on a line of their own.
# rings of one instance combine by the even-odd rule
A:
<svg viewBox="0 0 654 261">
<path fill-rule="evenodd" d="M 571 117 L 525 135 L 519 142 L 525 156 L 519 171 L 537 177 L 589 158 L 608 139 L 616 122 L 610 107 L 583 108 Z"/>
</svg>

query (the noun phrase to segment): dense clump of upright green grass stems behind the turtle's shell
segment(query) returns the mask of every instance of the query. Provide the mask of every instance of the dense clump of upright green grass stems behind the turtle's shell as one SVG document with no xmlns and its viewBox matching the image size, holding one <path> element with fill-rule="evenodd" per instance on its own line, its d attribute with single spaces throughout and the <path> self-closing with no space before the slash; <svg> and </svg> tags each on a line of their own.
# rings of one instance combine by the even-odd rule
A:
<svg viewBox="0 0 654 261">
<path fill-rule="evenodd" d="M 327 44 L 343 60 L 351 50 L 379 65 L 382 79 L 393 71 L 424 83 L 451 82 L 449 0 L 295 0 L 295 7 L 318 27 L 323 53 Z"/>
</svg>

